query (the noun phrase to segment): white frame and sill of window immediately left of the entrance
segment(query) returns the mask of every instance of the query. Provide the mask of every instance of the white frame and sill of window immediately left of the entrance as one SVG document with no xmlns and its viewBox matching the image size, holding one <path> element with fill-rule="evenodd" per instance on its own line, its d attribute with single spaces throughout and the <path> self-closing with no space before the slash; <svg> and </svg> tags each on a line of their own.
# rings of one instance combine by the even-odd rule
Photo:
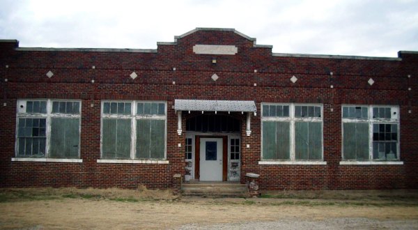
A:
<svg viewBox="0 0 418 230">
<path fill-rule="evenodd" d="M 105 102 L 130 102 L 131 114 L 104 114 Z M 164 103 L 164 115 L 138 115 L 137 103 Z M 169 164 L 167 160 L 167 102 L 155 101 L 155 100 L 102 100 L 100 108 L 100 159 L 98 163 L 121 163 L 121 164 Z M 130 159 L 118 160 L 118 159 L 102 159 L 103 154 L 103 119 L 105 118 L 123 118 L 131 120 L 131 145 L 130 145 Z M 164 158 L 163 159 L 137 159 L 136 146 L 137 146 L 137 119 L 149 119 L 149 120 L 164 120 Z"/>
</svg>

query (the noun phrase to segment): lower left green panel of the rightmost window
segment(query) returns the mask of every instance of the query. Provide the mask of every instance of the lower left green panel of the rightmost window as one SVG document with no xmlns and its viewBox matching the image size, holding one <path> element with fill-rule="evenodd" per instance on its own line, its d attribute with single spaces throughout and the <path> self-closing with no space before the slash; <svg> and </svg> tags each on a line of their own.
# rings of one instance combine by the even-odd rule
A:
<svg viewBox="0 0 418 230">
<path fill-rule="evenodd" d="M 344 160 L 369 160 L 369 123 L 343 123 Z"/>
</svg>

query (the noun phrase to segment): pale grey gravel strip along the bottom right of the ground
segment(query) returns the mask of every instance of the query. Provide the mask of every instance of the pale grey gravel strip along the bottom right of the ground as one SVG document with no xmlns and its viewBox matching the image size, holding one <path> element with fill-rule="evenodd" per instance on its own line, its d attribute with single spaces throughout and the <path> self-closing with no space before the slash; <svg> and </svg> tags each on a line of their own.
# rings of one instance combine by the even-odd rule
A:
<svg viewBox="0 0 418 230">
<path fill-rule="evenodd" d="M 187 224 L 179 229 L 418 229 L 418 220 L 372 220 L 367 218 L 333 218 L 327 220 L 285 219 L 272 222 L 227 224 Z"/>
</svg>

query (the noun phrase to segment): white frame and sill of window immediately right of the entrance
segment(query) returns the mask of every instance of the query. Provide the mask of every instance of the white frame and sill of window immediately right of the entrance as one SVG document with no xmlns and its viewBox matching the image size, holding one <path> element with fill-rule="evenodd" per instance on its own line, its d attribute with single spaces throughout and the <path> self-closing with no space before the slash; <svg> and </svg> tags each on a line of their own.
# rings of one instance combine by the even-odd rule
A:
<svg viewBox="0 0 418 230">
<path fill-rule="evenodd" d="M 287 105 L 289 107 L 289 116 L 288 117 L 270 117 L 263 116 L 263 106 L 264 105 Z M 320 107 L 320 117 L 295 117 L 295 107 L 296 106 L 316 106 Z M 290 159 L 263 159 L 263 121 L 284 121 L 290 122 Z M 307 121 L 307 122 L 320 122 L 322 137 L 321 137 L 321 159 L 320 160 L 296 160 L 295 159 L 295 122 L 297 121 Z M 324 159 L 324 132 L 323 132 L 323 104 L 307 104 L 307 103 L 261 103 L 261 161 L 258 164 L 316 164 L 316 165 L 326 165 Z"/>
</svg>

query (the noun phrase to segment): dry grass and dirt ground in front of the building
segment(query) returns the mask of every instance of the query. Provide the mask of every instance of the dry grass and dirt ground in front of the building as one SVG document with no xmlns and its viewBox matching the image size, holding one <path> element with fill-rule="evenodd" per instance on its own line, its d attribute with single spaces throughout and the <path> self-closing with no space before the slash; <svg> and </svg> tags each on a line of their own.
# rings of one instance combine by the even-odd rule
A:
<svg viewBox="0 0 418 230">
<path fill-rule="evenodd" d="M 149 191 L 56 191 L 38 197 L 42 190 L 0 190 L 0 229 L 418 229 L 416 192 L 213 199 Z"/>
</svg>

